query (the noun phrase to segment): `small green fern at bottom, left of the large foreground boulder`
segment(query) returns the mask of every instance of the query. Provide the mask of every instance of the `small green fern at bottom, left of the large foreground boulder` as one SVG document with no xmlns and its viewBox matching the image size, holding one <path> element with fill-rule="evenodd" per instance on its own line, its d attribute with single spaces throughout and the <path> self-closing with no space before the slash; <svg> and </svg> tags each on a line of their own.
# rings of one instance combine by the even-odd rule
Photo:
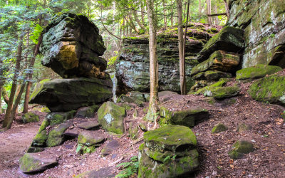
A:
<svg viewBox="0 0 285 178">
<path fill-rule="evenodd" d="M 133 174 L 138 173 L 138 157 L 131 157 L 130 162 L 122 162 L 118 164 L 117 167 L 121 167 L 123 170 L 119 172 L 115 177 L 131 177 Z"/>
</svg>

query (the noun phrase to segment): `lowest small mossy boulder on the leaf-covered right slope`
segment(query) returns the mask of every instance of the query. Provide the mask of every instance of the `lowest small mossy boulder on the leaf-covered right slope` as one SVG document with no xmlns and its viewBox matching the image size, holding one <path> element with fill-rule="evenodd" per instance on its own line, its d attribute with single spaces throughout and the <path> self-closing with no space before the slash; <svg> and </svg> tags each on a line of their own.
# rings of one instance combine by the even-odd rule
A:
<svg viewBox="0 0 285 178">
<path fill-rule="evenodd" d="M 232 146 L 232 150 L 229 151 L 229 157 L 232 159 L 240 159 L 244 157 L 244 154 L 254 151 L 254 145 L 251 142 L 244 140 L 237 141 Z"/>
</svg>

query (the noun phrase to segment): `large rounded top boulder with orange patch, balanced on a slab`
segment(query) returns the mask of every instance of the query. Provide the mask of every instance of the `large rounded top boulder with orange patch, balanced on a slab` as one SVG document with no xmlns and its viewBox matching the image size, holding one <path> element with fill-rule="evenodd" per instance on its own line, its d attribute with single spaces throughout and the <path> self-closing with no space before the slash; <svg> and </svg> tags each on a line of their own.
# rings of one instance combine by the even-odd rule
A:
<svg viewBox="0 0 285 178">
<path fill-rule="evenodd" d="M 105 49 L 97 26 L 86 16 L 59 14 L 43 30 L 41 63 L 63 78 L 109 78 L 100 57 Z"/>
</svg>

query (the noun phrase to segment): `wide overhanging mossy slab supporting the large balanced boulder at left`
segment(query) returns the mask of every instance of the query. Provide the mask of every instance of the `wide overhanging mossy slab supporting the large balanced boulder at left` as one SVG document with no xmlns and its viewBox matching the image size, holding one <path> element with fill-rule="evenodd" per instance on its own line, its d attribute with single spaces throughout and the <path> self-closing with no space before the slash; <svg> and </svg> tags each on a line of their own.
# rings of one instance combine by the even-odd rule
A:
<svg viewBox="0 0 285 178">
<path fill-rule="evenodd" d="M 111 80 L 55 79 L 36 85 L 29 103 L 46 105 L 52 112 L 97 105 L 113 97 Z"/>
</svg>

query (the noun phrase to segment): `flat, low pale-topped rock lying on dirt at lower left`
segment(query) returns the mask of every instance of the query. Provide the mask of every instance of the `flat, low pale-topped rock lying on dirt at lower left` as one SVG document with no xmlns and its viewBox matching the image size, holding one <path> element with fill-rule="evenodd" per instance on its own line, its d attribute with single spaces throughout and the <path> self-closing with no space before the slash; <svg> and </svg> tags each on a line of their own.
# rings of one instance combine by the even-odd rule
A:
<svg viewBox="0 0 285 178">
<path fill-rule="evenodd" d="M 26 153 L 19 160 L 20 169 L 24 173 L 42 172 L 49 167 L 56 166 L 56 158 L 41 157 L 36 153 Z"/>
</svg>

